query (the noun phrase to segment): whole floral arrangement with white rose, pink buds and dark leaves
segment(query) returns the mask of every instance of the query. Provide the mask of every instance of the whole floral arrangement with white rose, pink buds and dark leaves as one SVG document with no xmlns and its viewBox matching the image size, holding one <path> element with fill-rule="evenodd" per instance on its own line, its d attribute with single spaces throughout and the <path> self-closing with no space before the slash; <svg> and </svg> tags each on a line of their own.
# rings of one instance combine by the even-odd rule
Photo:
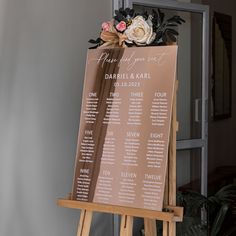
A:
<svg viewBox="0 0 236 236">
<path fill-rule="evenodd" d="M 135 13 L 133 9 L 115 11 L 112 20 L 102 23 L 100 37 L 89 40 L 94 47 L 159 46 L 175 43 L 178 32 L 175 27 L 185 22 L 180 16 L 165 20 L 159 9 L 151 14 Z"/>
</svg>

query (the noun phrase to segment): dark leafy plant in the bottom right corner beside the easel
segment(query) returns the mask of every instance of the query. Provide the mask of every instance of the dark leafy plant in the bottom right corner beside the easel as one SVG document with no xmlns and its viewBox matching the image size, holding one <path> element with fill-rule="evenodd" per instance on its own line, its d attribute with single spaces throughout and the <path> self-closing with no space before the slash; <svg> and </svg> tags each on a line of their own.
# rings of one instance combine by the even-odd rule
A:
<svg viewBox="0 0 236 236">
<path fill-rule="evenodd" d="M 181 236 L 231 236 L 236 235 L 236 226 L 232 225 L 226 232 L 222 226 L 230 214 L 231 204 L 236 202 L 236 185 L 221 188 L 208 198 L 194 191 L 178 193 L 178 204 L 184 207 L 184 221 L 177 225 Z M 206 209 L 207 221 L 201 221 L 201 211 Z"/>
</svg>

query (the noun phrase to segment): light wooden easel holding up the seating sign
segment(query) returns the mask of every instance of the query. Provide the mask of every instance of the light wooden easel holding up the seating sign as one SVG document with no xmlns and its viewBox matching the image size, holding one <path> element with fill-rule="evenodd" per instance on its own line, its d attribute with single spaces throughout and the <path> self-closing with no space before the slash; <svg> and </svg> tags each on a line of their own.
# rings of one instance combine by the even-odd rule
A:
<svg viewBox="0 0 236 236">
<path fill-rule="evenodd" d="M 61 207 L 81 209 L 77 236 L 89 236 L 93 212 L 105 212 L 121 215 L 120 236 L 132 236 L 133 218 L 144 218 L 146 236 L 157 236 L 156 220 L 163 221 L 163 236 L 176 235 L 176 222 L 183 219 L 183 208 L 176 206 L 176 93 L 178 83 L 175 83 L 175 91 L 172 106 L 172 120 L 169 139 L 168 167 L 164 193 L 164 211 L 152 211 L 121 206 L 112 206 L 97 203 L 88 203 L 68 199 L 58 199 Z"/>
</svg>

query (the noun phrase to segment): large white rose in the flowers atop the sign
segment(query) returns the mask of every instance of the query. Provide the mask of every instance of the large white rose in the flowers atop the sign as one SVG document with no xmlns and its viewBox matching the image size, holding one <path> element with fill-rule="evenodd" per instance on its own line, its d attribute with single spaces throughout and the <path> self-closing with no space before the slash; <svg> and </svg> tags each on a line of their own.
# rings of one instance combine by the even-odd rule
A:
<svg viewBox="0 0 236 236">
<path fill-rule="evenodd" d="M 145 21 L 142 16 L 136 16 L 131 25 L 125 30 L 127 43 L 136 43 L 138 45 L 150 44 L 155 39 L 151 21 Z"/>
</svg>

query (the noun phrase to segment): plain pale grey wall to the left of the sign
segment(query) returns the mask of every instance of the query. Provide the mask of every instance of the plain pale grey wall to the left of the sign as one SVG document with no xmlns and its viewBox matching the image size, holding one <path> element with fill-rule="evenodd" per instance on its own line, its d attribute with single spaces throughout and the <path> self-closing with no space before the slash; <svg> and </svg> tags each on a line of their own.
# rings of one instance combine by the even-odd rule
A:
<svg viewBox="0 0 236 236">
<path fill-rule="evenodd" d="M 96 3 L 96 5 L 94 4 Z M 111 1 L 0 0 L 0 235 L 73 236 L 71 191 L 87 41 Z M 95 217 L 91 235 L 112 235 Z"/>
</svg>

